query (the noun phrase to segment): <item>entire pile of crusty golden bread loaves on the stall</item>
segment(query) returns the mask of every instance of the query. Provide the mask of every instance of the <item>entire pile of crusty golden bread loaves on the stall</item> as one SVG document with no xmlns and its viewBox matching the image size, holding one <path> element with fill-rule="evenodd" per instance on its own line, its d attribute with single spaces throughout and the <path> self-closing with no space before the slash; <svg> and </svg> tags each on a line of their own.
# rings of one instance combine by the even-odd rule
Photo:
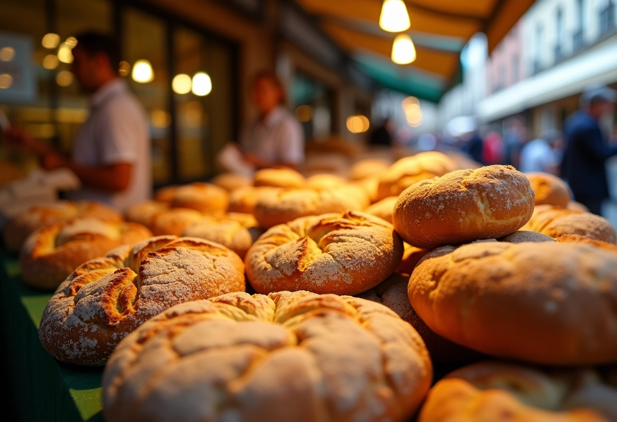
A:
<svg viewBox="0 0 617 422">
<path fill-rule="evenodd" d="M 617 421 L 615 228 L 555 176 L 460 167 L 225 174 L 5 235 L 109 421 Z"/>
</svg>

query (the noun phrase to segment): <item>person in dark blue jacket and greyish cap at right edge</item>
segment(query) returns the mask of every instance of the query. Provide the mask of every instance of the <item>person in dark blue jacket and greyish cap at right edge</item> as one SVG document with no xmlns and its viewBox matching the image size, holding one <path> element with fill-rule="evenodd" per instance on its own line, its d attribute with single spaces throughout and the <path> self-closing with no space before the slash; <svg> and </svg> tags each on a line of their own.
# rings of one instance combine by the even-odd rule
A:
<svg viewBox="0 0 617 422">
<path fill-rule="evenodd" d="M 606 162 L 617 155 L 617 144 L 608 144 L 598 122 L 613 110 L 616 91 L 594 86 L 581 94 L 579 110 L 563 124 L 565 151 L 561 176 L 574 200 L 602 215 L 602 203 L 609 197 Z"/>
</svg>

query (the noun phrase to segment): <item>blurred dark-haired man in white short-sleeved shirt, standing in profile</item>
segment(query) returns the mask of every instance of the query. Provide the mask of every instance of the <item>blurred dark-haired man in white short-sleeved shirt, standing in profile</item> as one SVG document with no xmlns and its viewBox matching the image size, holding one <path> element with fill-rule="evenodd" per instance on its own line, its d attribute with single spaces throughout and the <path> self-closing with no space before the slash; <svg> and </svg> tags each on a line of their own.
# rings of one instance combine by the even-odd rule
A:
<svg viewBox="0 0 617 422">
<path fill-rule="evenodd" d="M 118 76 L 118 44 L 110 36 L 76 36 L 71 71 L 90 96 L 89 114 L 72 143 L 70 157 L 39 143 L 22 128 L 6 130 L 9 144 L 36 154 L 45 170 L 68 168 L 81 188 L 67 199 L 104 202 L 123 211 L 151 197 L 150 139 L 143 106 Z"/>
</svg>

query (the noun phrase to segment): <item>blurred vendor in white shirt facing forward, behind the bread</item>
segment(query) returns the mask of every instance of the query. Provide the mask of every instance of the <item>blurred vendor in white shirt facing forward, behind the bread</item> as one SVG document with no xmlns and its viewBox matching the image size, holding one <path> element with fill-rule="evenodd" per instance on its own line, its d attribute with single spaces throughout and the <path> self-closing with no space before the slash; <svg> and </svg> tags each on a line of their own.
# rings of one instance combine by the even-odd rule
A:
<svg viewBox="0 0 617 422">
<path fill-rule="evenodd" d="M 275 73 L 262 71 L 253 79 L 252 98 L 258 116 L 242 130 L 239 151 L 255 168 L 299 168 L 304 163 L 302 125 L 284 106 L 285 91 Z"/>
</svg>

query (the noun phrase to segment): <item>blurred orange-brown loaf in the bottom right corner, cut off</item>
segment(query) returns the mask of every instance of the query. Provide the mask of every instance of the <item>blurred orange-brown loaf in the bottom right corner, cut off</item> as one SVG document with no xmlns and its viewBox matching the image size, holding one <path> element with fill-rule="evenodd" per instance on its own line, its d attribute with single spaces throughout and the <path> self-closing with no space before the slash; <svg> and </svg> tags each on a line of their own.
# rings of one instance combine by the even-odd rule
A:
<svg viewBox="0 0 617 422">
<path fill-rule="evenodd" d="M 592 369 L 477 362 L 437 381 L 418 422 L 610 422 L 617 420 L 615 387 Z"/>
</svg>

